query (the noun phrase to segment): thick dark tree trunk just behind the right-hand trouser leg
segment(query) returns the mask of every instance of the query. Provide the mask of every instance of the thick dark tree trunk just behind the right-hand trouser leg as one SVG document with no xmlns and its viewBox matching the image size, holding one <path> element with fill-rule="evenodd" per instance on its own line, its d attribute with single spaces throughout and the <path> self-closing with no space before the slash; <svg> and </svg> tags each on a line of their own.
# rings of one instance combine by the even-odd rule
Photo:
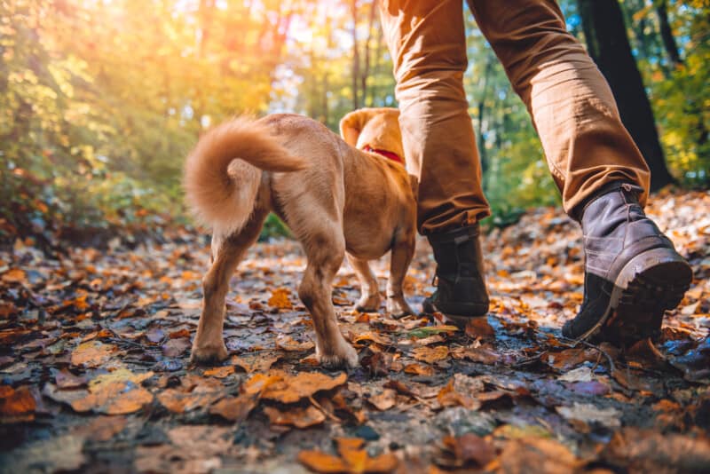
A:
<svg viewBox="0 0 710 474">
<path fill-rule="evenodd" d="M 602 70 L 627 127 L 651 169 L 651 190 L 674 181 L 668 172 L 659 133 L 617 0 L 577 0 L 588 51 Z"/>
</svg>

